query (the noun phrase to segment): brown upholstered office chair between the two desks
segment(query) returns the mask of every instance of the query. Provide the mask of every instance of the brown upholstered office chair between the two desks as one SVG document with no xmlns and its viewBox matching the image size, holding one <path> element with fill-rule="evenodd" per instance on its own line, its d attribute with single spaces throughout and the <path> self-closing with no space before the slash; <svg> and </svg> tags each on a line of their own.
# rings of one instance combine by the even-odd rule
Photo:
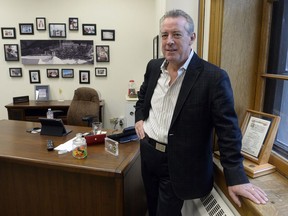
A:
<svg viewBox="0 0 288 216">
<path fill-rule="evenodd" d="M 74 97 L 67 112 L 67 124 L 91 127 L 93 121 L 99 121 L 100 100 L 95 89 L 80 87 L 74 91 Z"/>
</svg>

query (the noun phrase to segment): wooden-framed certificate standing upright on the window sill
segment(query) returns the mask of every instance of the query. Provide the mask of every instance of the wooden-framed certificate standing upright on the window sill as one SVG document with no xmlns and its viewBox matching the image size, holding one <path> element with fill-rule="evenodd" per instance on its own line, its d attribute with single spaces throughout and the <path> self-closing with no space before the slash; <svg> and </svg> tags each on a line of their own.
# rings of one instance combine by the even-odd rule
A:
<svg viewBox="0 0 288 216">
<path fill-rule="evenodd" d="M 250 126 L 251 118 L 255 118 L 256 120 L 257 119 L 260 120 L 260 124 L 263 124 L 263 123 L 261 123 L 261 120 L 263 120 L 265 122 L 270 122 L 270 125 L 269 125 L 267 132 L 265 134 L 263 134 L 263 135 L 265 135 L 264 136 L 265 139 L 264 139 L 263 143 L 260 143 L 261 148 L 260 148 L 260 152 L 257 156 L 253 156 L 252 154 L 247 153 L 247 151 L 243 150 L 243 148 L 246 145 L 245 144 L 245 136 L 249 132 L 248 131 L 249 127 L 251 127 Z M 241 153 L 244 156 L 244 158 L 249 159 L 250 161 L 252 161 L 258 165 L 268 163 L 270 153 L 272 150 L 272 146 L 273 146 L 273 142 L 274 142 L 276 134 L 277 134 L 279 123 L 280 123 L 280 117 L 279 116 L 248 109 L 246 111 L 246 115 L 245 115 L 244 121 L 243 121 L 242 126 L 241 126 L 241 131 L 243 134 L 243 140 L 242 140 L 243 144 L 242 144 Z M 252 124 L 256 124 L 256 123 L 252 123 Z M 259 132 L 259 131 L 264 131 L 264 130 L 262 130 L 262 128 L 259 128 L 259 129 L 257 129 L 257 131 Z M 256 132 L 252 132 L 252 133 L 255 135 Z M 253 145 L 255 146 L 255 143 L 258 141 L 258 138 L 260 137 L 260 135 L 261 134 L 257 134 L 257 136 L 251 136 L 249 138 L 250 139 L 249 142 L 251 142 L 251 143 L 253 142 Z M 257 137 L 257 139 L 256 139 L 256 137 Z M 254 140 L 254 139 L 256 139 L 256 140 Z M 250 143 L 248 143 L 248 144 L 250 144 Z"/>
</svg>

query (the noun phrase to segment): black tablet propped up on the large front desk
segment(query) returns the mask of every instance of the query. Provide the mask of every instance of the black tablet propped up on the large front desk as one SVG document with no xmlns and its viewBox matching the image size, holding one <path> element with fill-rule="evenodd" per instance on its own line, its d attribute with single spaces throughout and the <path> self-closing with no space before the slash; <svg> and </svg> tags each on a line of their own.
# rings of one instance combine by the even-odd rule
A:
<svg viewBox="0 0 288 216">
<path fill-rule="evenodd" d="M 41 123 L 41 135 L 65 136 L 72 130 L 65 128 L 62 119 L 39 118 Z"/>
</svg>

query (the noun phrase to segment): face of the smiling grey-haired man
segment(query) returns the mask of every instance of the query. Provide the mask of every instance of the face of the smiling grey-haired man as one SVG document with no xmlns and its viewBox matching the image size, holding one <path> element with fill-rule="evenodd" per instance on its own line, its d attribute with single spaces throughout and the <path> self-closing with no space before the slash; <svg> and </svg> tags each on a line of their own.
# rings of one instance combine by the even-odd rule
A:
<svg viewBox="0 0 288 216">
<path fill-rule="evenodd" d="M 169 17 L 161 25 L 162 52 L 169 63 L 182 65 L 189 57 L 195 34 L 188 34 L 186 23 L 183 17 Z"/>
</svg>

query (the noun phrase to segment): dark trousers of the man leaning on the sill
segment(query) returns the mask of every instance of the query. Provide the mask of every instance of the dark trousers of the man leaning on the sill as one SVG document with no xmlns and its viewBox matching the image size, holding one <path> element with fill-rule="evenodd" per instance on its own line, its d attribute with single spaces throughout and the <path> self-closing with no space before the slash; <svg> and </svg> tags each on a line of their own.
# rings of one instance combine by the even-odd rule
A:
<svg viewBox="0 0 288 216">
<path fill-rule="evenodd" d="M 148 137 L 140 141 L 140 152 L 149 216 L 181 216 L 184 201 L 172 188 L 167 153 L 156 150 Z"/>
</svg>

